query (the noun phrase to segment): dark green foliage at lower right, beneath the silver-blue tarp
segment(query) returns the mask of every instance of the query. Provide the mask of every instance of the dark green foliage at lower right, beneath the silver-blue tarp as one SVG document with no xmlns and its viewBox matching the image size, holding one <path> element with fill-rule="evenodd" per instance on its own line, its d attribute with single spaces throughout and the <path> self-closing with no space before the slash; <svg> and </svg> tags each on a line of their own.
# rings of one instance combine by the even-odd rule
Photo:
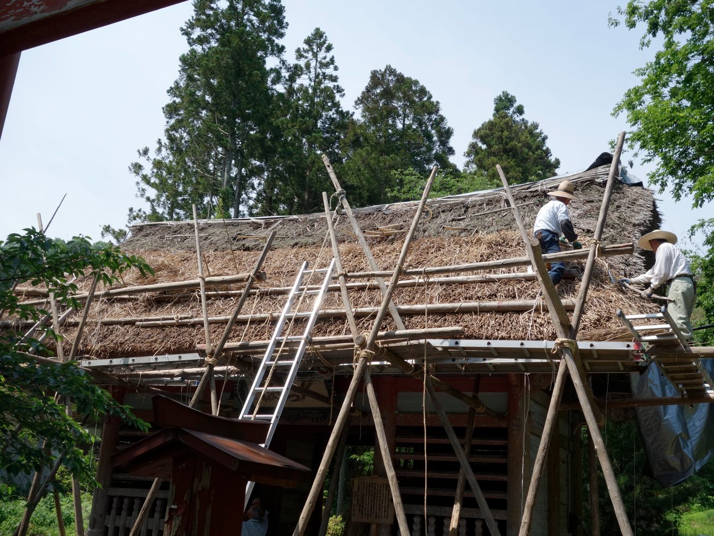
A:
<svg viewBox="0 0 714 536">
<path fill-rule="evenodd" d="M 582 429 L 583 445 L 587 445 L 587 432 Z M 608 455 L 613 465 L 620 495 L 630 522 L 636 532 L 651 536 L 670 536 L 685 512 L 698 507 L 710 508 L 714 501 L 714 464 L 705 465 L 700 472 L 678 485 L 663 488 L 647 475 L 648 467 L 642 447 L 642 438 L 632 420 L 607 420 L 603 429 Z M 588 450 L 583 449 L 584 495 L 588 497 Z M 589 503 L 585 502 L 583 520 L 585 533 L 590 532 Z M 602 534 L 618 533 L 618 522 L 608 495 L 605 479 L 598 465 L 598 504 Z"/>
</svg>

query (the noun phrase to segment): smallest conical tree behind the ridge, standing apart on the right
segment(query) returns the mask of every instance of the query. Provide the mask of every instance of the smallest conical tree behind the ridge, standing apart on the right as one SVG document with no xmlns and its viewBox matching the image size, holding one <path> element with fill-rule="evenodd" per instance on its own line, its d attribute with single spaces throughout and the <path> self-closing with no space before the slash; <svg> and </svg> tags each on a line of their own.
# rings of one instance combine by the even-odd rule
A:
<svg viewBox="0 0 714 536">
<path fill-rule="evenodd" d="M 498 181 L 496 164 L 501 164 L 508 182 L 520 184 L 555 175 L 560 160 L 545 145 L 548 137 L 535 121 L 523 117 L 523 104 L 503 91 L 493 99 L 493 117 L 473 131 L 466 153 L 466 170 Z"/>
</svg>

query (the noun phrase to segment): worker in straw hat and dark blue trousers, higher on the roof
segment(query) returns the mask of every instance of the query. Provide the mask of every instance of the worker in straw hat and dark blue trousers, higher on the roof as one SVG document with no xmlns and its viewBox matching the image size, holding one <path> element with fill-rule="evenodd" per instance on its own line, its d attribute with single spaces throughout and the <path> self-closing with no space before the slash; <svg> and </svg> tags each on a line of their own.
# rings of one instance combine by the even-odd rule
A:
<svg viewBox="0 0 714 536">
<path fill-rule="evenodd" d="M 565 239 L 573 243 L 573 249 L 581 249 L 583 244 L 578 242 L 578 234 L 573 229 L 573 222 L 570 222 L 568 204 L 575 199 L 575 187 L 573 183 L 565 180 L 558 185 L 554 192 L 548 192 L 553 197 L 551 201 L 540 207 L 538 216 L 533 224 L 533 234 L 540 242 L 540 251 L 543 253 L 557 253 L 560 251 L 560 242 L 565 244 Z M 565 238 L 561 238 L 564 236 Z M 558 284 L 565 272 L 564 262 L 553 262 L 550 264 L 548 276 L 553 284 Z"/>
</svg>

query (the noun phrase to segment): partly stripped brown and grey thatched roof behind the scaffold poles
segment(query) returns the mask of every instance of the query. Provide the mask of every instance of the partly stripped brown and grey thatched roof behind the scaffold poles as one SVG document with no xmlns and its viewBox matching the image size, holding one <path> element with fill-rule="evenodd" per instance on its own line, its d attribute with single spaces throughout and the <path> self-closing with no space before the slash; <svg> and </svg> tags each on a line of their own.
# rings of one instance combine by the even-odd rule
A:
<svg viewBox="0 0 714 536">
<path fill-rule="evenodd" d="M 588 247 L 600 211 L 604 182 L 609 166 L 598 167 L 568 177 L 575 182 L 579 201 L 570 204 L 570 215 L 576 231 L 583 237 Z M 549 197 L 545 195 L 560 181 L 560 177 L 539 183 L 523 184 L 515 187 L 517 204 L 526 226 L 532 228 L 535 214 Z M 349 197 L 349 192 L 347 192 Z M 334 207 L 333 199 L 333 207 Z M 378 229 L 408 229 L 416 209 L 416 202 L 390 204 L 379 207 L 355 209 L 356 219 L 365 232 L 373 231 L 368 237 L 373 255 L 380 269 L 394 267 L 403 244 L 404 233 L 377 236 Z M 657 227 L 659 216 L 652 193 L 642 187 L 627 187 L 616 184 L 610 203 L 607 224 L 603 234 L 603 244 L 631 243 L 644 232 Z M 303 216 L 212 220 L 201 222 L 199 233 L 203 249 L 206 275 L 230 275 L 249 272 L 258 258 L 268 229 L 277 232 L 273 248 L 268 253 L 263 266 L 267 274 L 265 282 L 256 285 L 259 289 L 268 287 L 290 287 L 303 261 L 311 266 L 324 267 L 331 260 L 332 252 L 327 236 L 326 219 L 323 213 Z M 341 259 L 346 272 L 364 272 L 369 267 L 358 246 L 346 217 L 336 222 L 336 232 Z M 193 222 L 164 222 L 141 224 L 131 229 L 131 238 L 123 249 L 143 256 L 156 274 L 141 278 L 137 273 L 125 275 L 127 285 L 170 282 L 196 279 L 196 246 L 193 237 Z M 406 262 L 406 269 L 437 267 L 485 260 L 524 257 L 523 241 L 516 230 L 513 213 L 507 209 L 503 192 L 477 192 L 457 197 L 434 199 L 418 225 Z M 593 284 L 588 295 L 588 305 L 580 324 L 580 339 L 605 340 L 622 332 L 615 312 L 652 311 L 655 306 L 645 304 L 634 294 L 625 295 L 610 284 L 607 270 L 617 277 L 631 276 L 643 272 L 647 259 L 642 252 L 621 257 L 598 259 Z M 582 267 L 584 262 L 572 263 Z M 499 269 L 492 272 L 524 272 L 525 268 Z M 473 274 L 465 274 L 473 275 Z M 321 281 L 316 275 L 311 284 Z M 414 279 L 414 276 L 403 277 Z M 445 304 L 470 302 L 508 302 L 511 300 L 536 300 L 540 294 L 533 281 L 510 280 L 505 282 L 477 282 L 469 284 L 441 284 L 427 280 L 414 287 L 398 288 L 393 301 L 406 304 Z M 366 279 L 361 279 L 366 281 Z M 373 280 L 373 279 L 370 279 Z M 360 279 L 351 279 L 360 281 Z M 580 279 L 565 279 L 558 285 L 563 299 L 575 299 Z M 81 286 L 89 287 L 89 282 Z M 208 316 L 225 317 L 231 314 L 238 301 L 238 294 L 229 291 L 240 286 L 226 286 L 211 289 L 208 299 Z M 355 289 L 350 292 L 352 307 L 378 307 L 381 293 L 378 289 Z M 285 294 L 259 292 L 246 302 L 242 314 L 278 313 L 283 307 Z M 303 307 L 305 308 L 305 307 Z M 323 309 L 343 309 L 341 294 L 330 292 Z M 144 327 L 141 322 L 116 323 L 116 319 L 140 319 L 158 317 L 167 324 L 158 327 Z M 201 322 L 201 302 L 198 292 L 174 292 L 139 294 L 136 297 L 102 300 L 91 307 L 89 322 L 81 343 L 80 354 L 95 358 L 131 357 L 154 354 L 175 354 L 193 352 L 197 344 L 203 344 L 205 337 Z M 363 332 L 371 329 L 374 314 L 357 319 Z M 254 317 L 255 318 L 255 317 Z M 519 312 L 456 312 L 425 314 L 423 307 L 418 314 L 403 314 L 407 329 L 423 327 L 462 326 L 466 339 L 554 339 L 555 331 L 545 306 L 539 304 L 531 310 Z M 64 329 L 67 337 L 76 330 L 77 319 L 69 322 Z M 193 319 L 189 325 L 183 324 Z M 114 323 L 113 323 L 114 321 Z M 171 325 L 173 322 L 174 325 Z M 215 343 L 221 337 L 226 323 L 216 321 L 211 324 L 211 339 Z M 296 322 L 296 329 L 300 329 Z M 386 317 L 382 329 L 394 329 L 393 321 Z M 269 339 L 273 331 L 264 317 L 251 322 L 238 322 L 233 328 L 230 340 L 258 341 Z M 344 318 L 321 319 L 313 335 L 349 334 Z"/>
</svg>

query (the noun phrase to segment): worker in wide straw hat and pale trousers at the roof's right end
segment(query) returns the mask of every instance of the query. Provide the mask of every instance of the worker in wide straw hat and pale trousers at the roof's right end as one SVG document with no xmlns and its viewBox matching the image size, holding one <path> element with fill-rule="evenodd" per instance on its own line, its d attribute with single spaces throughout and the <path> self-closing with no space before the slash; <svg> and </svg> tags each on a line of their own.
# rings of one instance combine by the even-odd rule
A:
<svg viewBox="0 0 714 536">
<path fill-rule="evenodd" d="M 628 284 L 649 283 L 650 286 L 642 291 L 642 297 L 645 299 L 650 299 L 653 290 L 660 284 L 667 284 L 667 297 L 674 300 L 669 302 L 667 310 L 684 338 L 691 341 L 693 331 L 689 319 L 694 310 L 696 286 L 689 262 L 674 245 L 676 243 L 677 235 L 668 231 L 657 229 L 644 234 L 637 244 L 642 249 L 655 252 L 655 265 L 638 277 L 620 281 Z"/>
</svg>

